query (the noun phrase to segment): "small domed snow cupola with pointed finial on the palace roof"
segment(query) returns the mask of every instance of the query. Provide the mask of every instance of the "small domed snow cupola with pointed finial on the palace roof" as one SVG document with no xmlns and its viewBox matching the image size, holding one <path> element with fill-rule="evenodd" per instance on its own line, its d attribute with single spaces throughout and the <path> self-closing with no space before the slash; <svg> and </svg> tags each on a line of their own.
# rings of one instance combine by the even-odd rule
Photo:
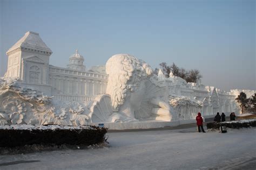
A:
<svg viewBox="0 0 256 170">
<path fill-rule="evenodd" d="M 76 69 L 79 71 L 85 71 L 85 66 L 83 62 L 84 62 L 84 58 L 81 54 L 78 53 L 78 49 L 77 49 L 76 53 L 69 57 L 69 64 L 67 65 L 67 68 Z"/>
</svg>

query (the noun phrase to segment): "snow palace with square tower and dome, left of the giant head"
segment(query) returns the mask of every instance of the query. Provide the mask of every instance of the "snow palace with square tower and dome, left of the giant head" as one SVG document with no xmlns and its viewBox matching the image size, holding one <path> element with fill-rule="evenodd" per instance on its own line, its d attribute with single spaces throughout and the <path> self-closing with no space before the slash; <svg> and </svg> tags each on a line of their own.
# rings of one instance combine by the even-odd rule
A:
<svg viewBox="0 0 256 170">
<path fill-rule="evenodd" d="M 106 91 L 107 75 L 101 67 L 85 71 L 84 58 L 76 53 L 66 68 L 49 65 L 51 49 L 38 33 L 26 32 L 8 52 L 7 77 L 18 77 L 26 87 L 33 87 L 56 100 L 89 101 Z"/>
</svg>

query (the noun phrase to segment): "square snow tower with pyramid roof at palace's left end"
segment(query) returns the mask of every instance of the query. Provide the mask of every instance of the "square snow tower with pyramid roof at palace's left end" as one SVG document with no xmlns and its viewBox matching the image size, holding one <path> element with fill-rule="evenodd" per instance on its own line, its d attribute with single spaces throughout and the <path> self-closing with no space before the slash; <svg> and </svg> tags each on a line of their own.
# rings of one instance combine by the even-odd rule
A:
<svg viewBox="0 0 256 170">
<path fill-rule="evenodd" d="M 26 32 L 6 54 L 8 69 L 6 77 L 18 77 L 29 84 L 48 84 L 51 49 L 36 32 Z"/>
</svg>

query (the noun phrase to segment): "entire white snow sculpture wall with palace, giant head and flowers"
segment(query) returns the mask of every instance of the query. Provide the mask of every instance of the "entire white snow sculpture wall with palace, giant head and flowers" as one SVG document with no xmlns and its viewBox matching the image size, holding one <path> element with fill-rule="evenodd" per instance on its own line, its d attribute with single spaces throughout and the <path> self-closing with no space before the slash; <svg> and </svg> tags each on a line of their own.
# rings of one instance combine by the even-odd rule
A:
<svg viewBox="0 0 256 170">
<path fill-rule="evenodd" d="M 198 112 L 203 116 L 239 112 L 235 102 L 239 90 L 226 92 L 187 83 L 172 73 L 166 78 L 161 70 L 156 76 L 147 63 L 129 54 L 113 55 L 106 66 L 86 70 L 84 58 L 76 50 L 66 68 L 52 66 L 51 49 L 38 33 L 31 31 L 6 54 L 8 69 L 0 87 L 0 111 L 6 115 L 2 116 L 2 124 L 140 122 L 137 128 L 157 128 L 160 126 L 152 121 L 167 122 L 161 124 L 166 126 L 168 122 L 193 122 Z M 116 125 L 108 127 L 115 129 Z"/>
</svg>

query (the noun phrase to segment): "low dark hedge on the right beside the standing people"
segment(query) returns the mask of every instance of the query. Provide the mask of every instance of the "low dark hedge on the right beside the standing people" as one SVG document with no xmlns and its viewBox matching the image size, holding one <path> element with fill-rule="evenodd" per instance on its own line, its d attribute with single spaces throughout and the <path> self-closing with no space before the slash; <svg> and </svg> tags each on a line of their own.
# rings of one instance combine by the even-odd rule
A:
<svg viewBox="0 0 256 170">
<path fill-rule="evenodd" d="M 256 121 L 250 121 L 250 122 L 235 121 L 235 122 L 221 122 L 221 123 L 210 122 L 210 123 L 207 123 L 206 126 L 207 126 L 207 129 L 219 129 L 220 125 L 225 125 L 226 128 L 231 128 L 231 129 L 249 128 L 250 126 L 255 127 Z"/>
</svg>

